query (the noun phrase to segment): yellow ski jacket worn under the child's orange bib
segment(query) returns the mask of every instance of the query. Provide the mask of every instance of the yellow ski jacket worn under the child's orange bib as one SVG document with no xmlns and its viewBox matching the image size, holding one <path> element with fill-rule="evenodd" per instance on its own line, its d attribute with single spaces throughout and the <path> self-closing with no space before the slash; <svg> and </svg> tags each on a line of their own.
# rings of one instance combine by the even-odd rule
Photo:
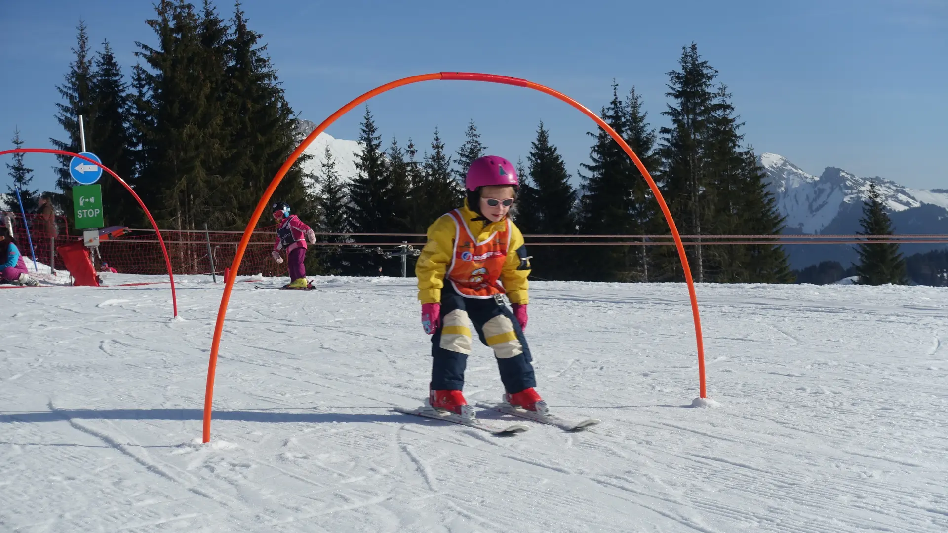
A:
<svg viewBox="0 0 948 533">
<path fill-rule="evenodd" d="M 494 231 L 504 230 L 503 226 L 507 222 L 506 219 L 500 222 L 472 220 L 477 218 L 478 214 L 468 209 L 466 200 L 460 211 L 463 219 L 467 221 L 467 228 L 478 241 L 486 240 Z M 441 289 L 445 286 L 447 266 L 451 264 L 451 255 L 454 253 L 455 224 L 454 219 L 446 213 L 428 227 L 428 242 L 421 250 L 418 263 L 415 265 L 415 276 L 418 278 L 418 300 L 421 303 L 441 302 Z M 517 254 L 517 250 L 522 246 L 523 234 L 511 220 L 510 247 L 507 248 L 507 259 L 503 263 L 500 277 L 501 285 L 510 303 L 526 304 L 528 300 L 527 276 L 530 275 L 530 269 L 519 269 L 520 256 Z"/>
</svg>

